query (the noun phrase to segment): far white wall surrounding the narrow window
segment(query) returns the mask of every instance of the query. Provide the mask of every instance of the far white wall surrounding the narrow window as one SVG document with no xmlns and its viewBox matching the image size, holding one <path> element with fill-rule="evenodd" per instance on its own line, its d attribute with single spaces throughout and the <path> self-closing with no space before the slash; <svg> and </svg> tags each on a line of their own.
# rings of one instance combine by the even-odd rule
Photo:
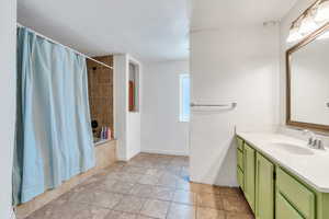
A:
<svg viewBox="0 0 329 219">
<path fill-rule="evenodd" d="M 189 61 L 145 65 L 141 112 L 141 151 L 189 154 L 189 123 L 180 123 L 180 74 Z"/>
</svg>

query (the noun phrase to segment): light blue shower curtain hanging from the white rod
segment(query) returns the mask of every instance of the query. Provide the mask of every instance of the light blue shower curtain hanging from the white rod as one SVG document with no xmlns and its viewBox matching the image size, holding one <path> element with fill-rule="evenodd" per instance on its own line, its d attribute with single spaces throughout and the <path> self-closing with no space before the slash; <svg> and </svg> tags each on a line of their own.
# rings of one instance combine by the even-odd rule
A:
<svg viewBox="0 0 329 219">
<path fill-rule="evenodd" d="M 25 203 L 95 164 L 86 58 L 18 30 L 13 201 Z"/>
</svg>

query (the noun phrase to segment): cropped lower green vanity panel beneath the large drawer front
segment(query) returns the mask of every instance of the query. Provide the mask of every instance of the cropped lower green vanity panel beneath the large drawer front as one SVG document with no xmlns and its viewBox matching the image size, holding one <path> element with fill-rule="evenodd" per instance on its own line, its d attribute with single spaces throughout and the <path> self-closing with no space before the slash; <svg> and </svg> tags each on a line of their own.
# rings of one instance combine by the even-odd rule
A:
<svg viewBox="0 0 329 219">
<path fill-rule="evenodd" d="M 304 219 L 280 193 L 276 193 L 275 211 L 275 219 Z"/>
</svg>

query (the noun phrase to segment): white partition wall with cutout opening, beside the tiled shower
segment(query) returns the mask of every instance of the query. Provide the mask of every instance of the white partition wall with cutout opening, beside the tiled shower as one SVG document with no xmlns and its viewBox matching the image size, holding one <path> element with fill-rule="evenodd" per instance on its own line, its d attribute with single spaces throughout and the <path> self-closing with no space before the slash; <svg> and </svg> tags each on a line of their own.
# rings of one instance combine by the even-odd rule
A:
<svg viewBox="0 0 329 219">
<path fill-rule="evenodd" d="M 139 92 L 141 93 L 141 64 L 129 55 L 114 56 L 114 137 L 117 139 L 117 158 L 127 161 L 140 152 L 140 111 L 143 99 L 139 96 L 139 111 L 128 111 L 129 61 L 139 65 Z"/>
</svg>

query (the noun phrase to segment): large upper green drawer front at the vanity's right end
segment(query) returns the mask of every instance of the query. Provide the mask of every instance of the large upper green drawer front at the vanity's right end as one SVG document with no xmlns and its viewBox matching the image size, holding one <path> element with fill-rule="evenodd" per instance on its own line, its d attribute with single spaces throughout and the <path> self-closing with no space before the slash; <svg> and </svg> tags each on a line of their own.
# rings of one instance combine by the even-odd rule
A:
<svg viewBox="0 0 329 219">
<path fill-rule="evenodd" d="M 282 169 L 276 172 L 276 189 L 304 218 L 315 218 L 315 194 Z"/>
</svg>

